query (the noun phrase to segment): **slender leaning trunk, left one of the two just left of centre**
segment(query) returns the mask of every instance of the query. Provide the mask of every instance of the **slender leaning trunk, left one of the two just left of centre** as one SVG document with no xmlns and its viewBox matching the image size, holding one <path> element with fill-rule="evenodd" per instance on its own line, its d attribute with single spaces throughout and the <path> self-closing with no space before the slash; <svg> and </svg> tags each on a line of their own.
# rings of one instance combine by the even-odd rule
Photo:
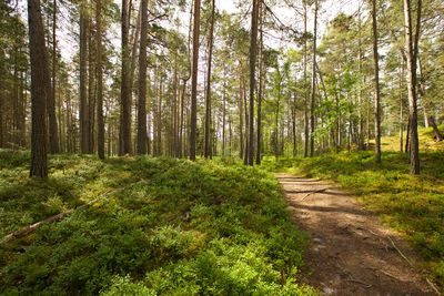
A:
<svg viewBox="0 0 444 296">
<path fill-rule="evenodd" d="M 190 160 L 195 161 L 195 133 L 198 125 L 198 62 L 201 0 L 194 0 L 193 71 L 191 78 Z"/>
</svg>

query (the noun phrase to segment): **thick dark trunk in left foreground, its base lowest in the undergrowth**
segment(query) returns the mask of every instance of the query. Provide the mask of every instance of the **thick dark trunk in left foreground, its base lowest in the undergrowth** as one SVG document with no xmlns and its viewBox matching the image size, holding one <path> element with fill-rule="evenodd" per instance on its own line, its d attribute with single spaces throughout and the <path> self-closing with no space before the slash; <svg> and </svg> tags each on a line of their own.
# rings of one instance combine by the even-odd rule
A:
<svg viewBox="0 0 444 296">
<path fill-rule="evenodd" d="M 31 169 L 30 176 L 48 176 L 47 164 L 47 76 L 48 55 L 40 0 L 28 0 L 29 48 L 31 60 Z"/>
</svg>

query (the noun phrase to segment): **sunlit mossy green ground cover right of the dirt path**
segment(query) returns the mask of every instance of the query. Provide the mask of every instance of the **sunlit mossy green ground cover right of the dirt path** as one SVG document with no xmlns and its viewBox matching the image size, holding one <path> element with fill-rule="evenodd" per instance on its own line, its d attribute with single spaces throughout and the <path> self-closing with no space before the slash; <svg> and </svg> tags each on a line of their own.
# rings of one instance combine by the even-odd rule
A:
<svg viewBox="0 0 444 296">
<path fill-rule="evenodd" d="M 420 131 L 421 175 L 410 175 L 398 137 L 382 140 L 382 163 L 374 152 L 341 152 L 313 159 L 265 162 L 272 171 L 326 178 L 377 213 L 415 247 L 434 280 L 444 287 L 444 146 L 432 129 Z M 392 150 L 392 151 L 390 151 Z"/>
</svg>

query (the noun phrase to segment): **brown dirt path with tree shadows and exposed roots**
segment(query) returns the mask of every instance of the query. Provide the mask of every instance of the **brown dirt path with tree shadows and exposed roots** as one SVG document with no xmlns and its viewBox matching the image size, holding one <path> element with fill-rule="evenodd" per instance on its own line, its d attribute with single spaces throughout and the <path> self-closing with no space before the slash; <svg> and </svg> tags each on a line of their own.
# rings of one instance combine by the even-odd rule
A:
<svg viewBox="0 0 444 296">
<path fill-rule="evenodd" d="M 400 254 L 415 262 L 406 243 L 353 197 L 325 182 L 275 175 L 295 223 L 311 234 L 303 282 L 325 295 L 437 295 Z"/>
</svg>

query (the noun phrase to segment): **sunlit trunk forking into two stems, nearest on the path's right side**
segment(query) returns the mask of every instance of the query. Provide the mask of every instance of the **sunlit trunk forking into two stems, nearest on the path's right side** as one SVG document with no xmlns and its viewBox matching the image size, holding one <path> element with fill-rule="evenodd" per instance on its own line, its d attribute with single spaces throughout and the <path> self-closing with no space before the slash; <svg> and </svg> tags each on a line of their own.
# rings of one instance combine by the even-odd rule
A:
<svg viewBox="0 0 444 296">
<path fill-rule="evenodd" d="M 416 57 L 421 29 L 421 6 L 417 1 L 416 33 L 412 40 L 412 20 L 410 0 L 404 0 L 405 41 L 407 48 L 408 73 L 408 125 L 410 125 L 410 161 L 411 174 L 420 174 L 420 143 L 417 136 L 417 108 L 416 108 Z"/>
</svg>

